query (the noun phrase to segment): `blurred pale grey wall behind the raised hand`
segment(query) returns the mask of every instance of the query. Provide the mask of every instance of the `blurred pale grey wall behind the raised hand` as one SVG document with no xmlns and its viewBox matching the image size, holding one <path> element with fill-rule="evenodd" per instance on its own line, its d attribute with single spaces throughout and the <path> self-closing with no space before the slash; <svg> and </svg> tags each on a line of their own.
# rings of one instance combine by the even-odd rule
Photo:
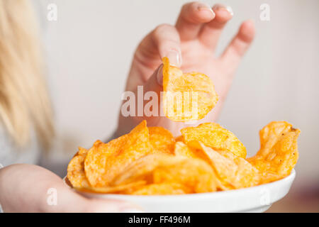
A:
<svg viewBox="0 0 319 227">
<path fill-rule="evenodd" d="M 136 46 L 160 23 L 174 24 L 186 2 L 34 0 L 57 121 L 55 161 L 68 160 L 78 145 L 90 147 L 113 133 Z M 47 21 L 50 3 L 57 4 L 57 21 Z M 319 1 L 220 3 L 230 5 L 234 16 L 218 52 L 248 18 L 254 20 L 257 35 L 237 71 L 219 123 L 242 140 L 248 155 L 257 152 L 258 131 L 269 121 L 286 120 L 301 128 L 293 188 L 310 188 L 318 199 Z M 270 6 L 270 21 L 259 19 L 262 4 Z"/>
</svg>

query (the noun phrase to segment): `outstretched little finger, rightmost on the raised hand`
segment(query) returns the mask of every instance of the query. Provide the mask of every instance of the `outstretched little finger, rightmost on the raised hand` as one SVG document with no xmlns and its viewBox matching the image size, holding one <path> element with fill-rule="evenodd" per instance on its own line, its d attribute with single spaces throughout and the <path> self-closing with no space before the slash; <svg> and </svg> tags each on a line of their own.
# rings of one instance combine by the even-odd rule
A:
<svg viewBox="0 0 319 227">
<path fill-rule="evenodd" d="M 242 23 L 240 29 L 230 42 L 228 47 L 220 57 L 223 64 L 230 65 L 232 70 L 235 70 L 240 62 L 240 59 L 250 47 L 254 39 L 254 22 L 249 20 Z"/>
</svg>

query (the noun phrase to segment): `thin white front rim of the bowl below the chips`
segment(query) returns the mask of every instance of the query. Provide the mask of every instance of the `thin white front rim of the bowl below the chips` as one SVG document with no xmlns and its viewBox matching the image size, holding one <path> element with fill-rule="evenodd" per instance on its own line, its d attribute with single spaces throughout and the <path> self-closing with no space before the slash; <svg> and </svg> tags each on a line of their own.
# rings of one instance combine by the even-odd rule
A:
<svg viewBox="0 0 319 227">
<path fill-rule="evenodd" d="M 63 182 L 69 189 L 74 190 L 75 192 L 79 192 L 81 194 L 91 195 L 91 196 L 112 196 L 118 199 L 125 199 L 125 198 L 137 198 L 137 199 L 172 199 L 172 198 L 179 198 L 179 199 L 200 199 L 206 196 L 227 196 L 228 194 L 242 194 L 242 193 L 250 193 L 254 192 L 255 190 L 259 189 L 262 190 L 268 187 L 277 187 L 277 185 L 286 184 L 289 182 L 293 182 L 293 179 L 296 177 L 296 170 L 291 170 L 290 175 L 284 177 L 283 179 L 276 180 L 274 182 L 270 182 L 267 184 L 260 184 L 254 187 L 247 187 L 242 189 L 232 189 L 229 191 L 220 191 L 220 192 L 203 192 L 203 193 L 193 193 L 193 194 L 167 194 L 167 195 L 130 195 L 130 194 L 106 194 L 106 193 L 94 193 L 94 192 L 80 192 L 77 189 L 72 188 L 67 182 L 67 176 L 63 177 Z"/>
</svg>

